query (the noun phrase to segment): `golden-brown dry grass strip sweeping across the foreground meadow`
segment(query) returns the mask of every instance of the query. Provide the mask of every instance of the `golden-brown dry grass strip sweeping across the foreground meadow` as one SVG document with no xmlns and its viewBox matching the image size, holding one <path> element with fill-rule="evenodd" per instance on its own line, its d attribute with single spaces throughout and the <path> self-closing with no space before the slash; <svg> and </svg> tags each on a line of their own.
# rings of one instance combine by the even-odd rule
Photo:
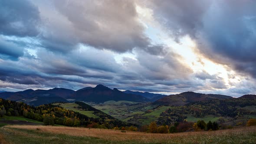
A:
<svg viewBox="0 0 256 144">
<path fill-rule="evenodd" d="M 121 131 L 106 129 L 33 125 L 8 125 L 5 128 L 28 130 L 36 130 L 39 128 L 39 131 L 41 132 L 52 134 L 67 134 L 79 137 L 98 137 L 107 141 L 136 141 L 139 143 L 232 143 L 234 138 L 237 138 L 239 143 L 254 143 L 256 140 L 256 127 L 241 127 L 219 131 L 185 132 L 177 134 L 150 134 L 130 131 L 122 133 Z"/>
</svg>

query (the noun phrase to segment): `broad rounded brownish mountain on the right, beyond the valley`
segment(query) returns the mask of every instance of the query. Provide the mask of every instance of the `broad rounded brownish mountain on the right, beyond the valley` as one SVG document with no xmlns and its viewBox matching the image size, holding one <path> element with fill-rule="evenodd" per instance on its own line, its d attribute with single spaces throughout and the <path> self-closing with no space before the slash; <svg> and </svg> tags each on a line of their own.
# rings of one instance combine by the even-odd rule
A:
<svg viewBox="0 0 256 144">
<path fill-rule="evenodd" d="M 215 95 L 215 94 L 201 94 L 196 92 L 183 92 L 177 95 L 168 95 L 164 98 L 160 98 L 153 104 L 156 105 L 186 105 L 190 102 L 207 101 L 212 99 L 227 99 L 233 98 L 227 95 Z"/>
</svg>

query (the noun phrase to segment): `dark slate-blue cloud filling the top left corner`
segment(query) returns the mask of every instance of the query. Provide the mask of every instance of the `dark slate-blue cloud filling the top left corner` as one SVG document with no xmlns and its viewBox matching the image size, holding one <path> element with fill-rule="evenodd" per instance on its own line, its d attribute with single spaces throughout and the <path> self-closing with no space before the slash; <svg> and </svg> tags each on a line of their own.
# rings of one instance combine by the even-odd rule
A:
<svg viewBox="0 0 256 144">
<path fill-rule="evenodd" d="M 36 36 L 40 24 L 39 11 L 28 0 L 0 1 L 0 34 Z"/>
</svg>

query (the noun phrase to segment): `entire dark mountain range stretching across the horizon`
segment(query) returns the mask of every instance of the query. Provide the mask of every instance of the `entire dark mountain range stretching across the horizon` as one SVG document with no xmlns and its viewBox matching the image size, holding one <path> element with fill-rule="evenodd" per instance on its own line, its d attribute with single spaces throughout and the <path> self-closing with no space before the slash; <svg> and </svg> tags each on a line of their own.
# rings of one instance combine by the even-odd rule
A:
<svg viewBox="0 0 256 144">
<path fill-rule="evenodd" d="M 243 98 L 255 98 L 255 95 L 244 95 Z M 66 88 L 27 89 L 20 92 L 1 92 L 0 98 L 23 101 L 30 105 L 42 105 L 51 102 L 86 101 L 104 103 L 105 101 L 135 101 L 152 102 L 153 105 L 186 105 L 196 101 L 233 98 L 227 95 L 201 94 L 183 92 L 177 95 L 161 95 L 149 92 L 119 91 L 117 88 L 108 88 L 97 85 L 95 88 L 86 87 L 77 91 Z"/>
</svg>

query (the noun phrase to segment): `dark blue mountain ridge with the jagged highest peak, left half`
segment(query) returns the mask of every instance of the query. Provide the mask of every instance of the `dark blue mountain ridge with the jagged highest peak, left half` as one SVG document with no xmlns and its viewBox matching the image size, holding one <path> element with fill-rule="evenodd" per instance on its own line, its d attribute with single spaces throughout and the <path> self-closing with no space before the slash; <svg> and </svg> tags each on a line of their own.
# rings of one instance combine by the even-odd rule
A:
<svg viewBox="0 0 256 144">
<path fill-rule="evenodd" d="M 88 101 L 88 102 L 105 102 L 105 101 L 136 101 L 136 102 L 144 102 L 149 101 L 148 98 L 144 98 L 141 95 L 127 94 L 125 92 L 119 91 L 117 88 L 111 89 L 104 85 L 97 85 L 95 88 L 86 87 L 81 88 L 77 91 L 66 89 L 66 88 L 53 88 L 49 90 L 43 89 L 27 89 L 25 91 L 20 92 L 2 92 L 0 93 L 0 97 L 4 99 L 9 99 L 13 101 L 24 101 L 28 102 L 31 99 L 36 99 L 33 101 L 35 105 L 38 103 L 46 104 L 49 101 L 54 102 L 53 100 L 58 100 L 62 102 L 67 102 L 66 99 L 75 99 L 77 101 Z M 37 98 L 35 98 L 37 97 Z M 45 97 L 45 98 L 43 98 Z M 38 99 L 41 102 L 37 102 Z M 30 103 L 31 104 L 31 103 Z M 32 105 L 32 104 L 31 104 Z"/>
</svg>

